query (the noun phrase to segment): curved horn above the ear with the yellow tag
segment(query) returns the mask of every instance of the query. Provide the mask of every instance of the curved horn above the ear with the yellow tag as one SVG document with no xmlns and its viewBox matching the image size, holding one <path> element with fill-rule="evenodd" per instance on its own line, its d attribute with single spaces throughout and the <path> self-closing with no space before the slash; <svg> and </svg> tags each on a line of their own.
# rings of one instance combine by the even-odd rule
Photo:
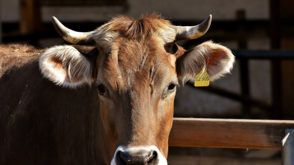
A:
<svg viewBox="0 0 294 165">
<path fill-rule="evenodd" d="M 212 16 L 209 15 L 202 23 L 196 26 L 173 26 L 177 31 L 175 40 L 192 40 L 203 36 L 209 29 Z"/>
</svg>

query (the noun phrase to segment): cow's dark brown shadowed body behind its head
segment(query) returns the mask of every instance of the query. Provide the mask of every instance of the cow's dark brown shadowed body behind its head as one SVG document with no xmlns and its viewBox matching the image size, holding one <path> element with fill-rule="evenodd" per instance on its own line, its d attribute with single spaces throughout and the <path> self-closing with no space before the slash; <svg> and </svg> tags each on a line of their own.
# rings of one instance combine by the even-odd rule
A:
<svg viewBox="0 0 294 165">
<path fill-rule="evenodd" d="M 43 51 L 0 46 L 0 164 L 109 162 L 96 90 L 65 89 L 42 78 Z"/>
</svg>

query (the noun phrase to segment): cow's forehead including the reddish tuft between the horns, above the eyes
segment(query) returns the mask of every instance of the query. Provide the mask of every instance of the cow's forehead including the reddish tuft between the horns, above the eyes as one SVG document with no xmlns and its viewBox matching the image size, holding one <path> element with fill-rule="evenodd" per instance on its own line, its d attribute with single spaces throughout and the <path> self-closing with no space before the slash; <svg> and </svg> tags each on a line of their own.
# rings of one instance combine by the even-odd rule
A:
<svg viewBox="0 0 294 165">
<path fill-rule="evenodd" d="M 105 54 L 99 64 L 101 78 L 106 78 L 112 88 L 149 85 L 154 78 L 164 80 L 167 73 L 176 75 L 172 60 L 175 57 L 165 50 L 165 45 L 173 42 L 176 35 L 170 21 L 158 15 L 138 20 L 122 16 L 97 31 L 95 40 Z"/>
</svg>

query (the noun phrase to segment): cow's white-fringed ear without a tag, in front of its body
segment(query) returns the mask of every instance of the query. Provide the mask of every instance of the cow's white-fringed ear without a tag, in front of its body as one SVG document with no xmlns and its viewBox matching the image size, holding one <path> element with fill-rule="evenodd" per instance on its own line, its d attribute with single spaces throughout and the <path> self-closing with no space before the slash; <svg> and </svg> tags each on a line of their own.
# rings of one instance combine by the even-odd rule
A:
<svg viewBox="0 0 294 165">
<path fill-rule="evenodd" d="M 40 58 L 39 67 L 50 81 L 64 87 L 91 85 L 96 72 L 97 48 L 88 46 L 54 46 Z"/>
</svg>

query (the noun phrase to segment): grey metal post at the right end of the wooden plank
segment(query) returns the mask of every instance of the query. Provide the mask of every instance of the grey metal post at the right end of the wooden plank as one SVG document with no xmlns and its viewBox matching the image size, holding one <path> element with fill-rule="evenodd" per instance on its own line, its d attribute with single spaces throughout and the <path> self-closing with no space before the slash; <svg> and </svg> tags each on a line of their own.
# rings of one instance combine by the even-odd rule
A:
<svg viewBox="0 0 294 165">
<path fill-rule="evenodd" d="M 286 129 L 282 140 L 282 165 L 294 165 L 294 129 Z"/>
</svg>

